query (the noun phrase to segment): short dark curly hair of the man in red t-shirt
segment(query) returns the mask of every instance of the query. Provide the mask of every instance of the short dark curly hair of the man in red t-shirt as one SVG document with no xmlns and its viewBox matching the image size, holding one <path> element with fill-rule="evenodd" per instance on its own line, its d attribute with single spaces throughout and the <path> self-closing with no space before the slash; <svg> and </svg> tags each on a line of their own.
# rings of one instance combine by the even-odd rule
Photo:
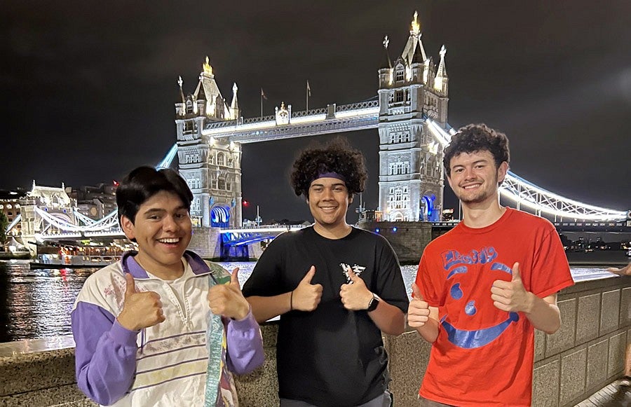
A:
<svg viewBox="0 0 631 407">
<path fill-rule="evenodd" d="M 495 160 L 496 168 L 504 161 L 506 163 L 510 161 L 506 134 L 497 132 L 484 123 L 466 125 L 460 127 L 458 132 L 452 136 L 452 142 L 445 149 L 442 165 L 445 167 L 447 177 L 452 175 L 452 169 L 449 167 L 452 158 L 461 153 L 474 153 L 475 151 L 489 151 Z"/>
</svg>

